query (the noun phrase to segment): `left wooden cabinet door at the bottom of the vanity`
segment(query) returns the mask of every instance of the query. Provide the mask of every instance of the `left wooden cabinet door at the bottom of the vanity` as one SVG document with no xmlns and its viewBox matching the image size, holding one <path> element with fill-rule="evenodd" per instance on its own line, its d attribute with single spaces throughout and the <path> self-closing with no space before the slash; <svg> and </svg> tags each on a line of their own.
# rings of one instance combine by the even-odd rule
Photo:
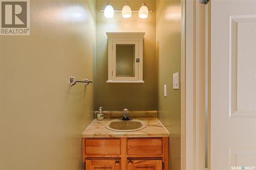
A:
<svg viewBox="0 0 256 170">
<path fill-rule="evenodd" d="M 89 159 L 86 160 L 86 170 L 120 170 L 120 160 Z"/>
</svg>

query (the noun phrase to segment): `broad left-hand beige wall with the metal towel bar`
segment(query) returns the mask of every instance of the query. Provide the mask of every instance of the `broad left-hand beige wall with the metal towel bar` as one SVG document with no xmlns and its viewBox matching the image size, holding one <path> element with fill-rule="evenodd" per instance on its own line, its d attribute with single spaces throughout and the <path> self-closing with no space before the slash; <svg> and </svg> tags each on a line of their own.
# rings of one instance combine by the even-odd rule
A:
<svg viewBox="0 0 256 170">
<path fill-rule="evenodd" d="M 95 83 L 68 81 L 95 81 L 95 2 L 33 0 L 30 7 L 31 35 L 0 37 L 0 169 L 81 169 Z"/>
</svg>

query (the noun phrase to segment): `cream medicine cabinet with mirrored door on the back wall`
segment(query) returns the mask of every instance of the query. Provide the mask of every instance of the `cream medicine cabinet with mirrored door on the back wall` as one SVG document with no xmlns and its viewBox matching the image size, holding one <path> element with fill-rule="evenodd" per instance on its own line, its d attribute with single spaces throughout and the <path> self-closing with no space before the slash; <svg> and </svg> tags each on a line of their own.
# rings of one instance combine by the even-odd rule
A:
<svg viewBox="0 0 256 170">
<path fill-rule="evenodd" d="M 108 36 L 107 83 L 144 83 L 143 38 L 145 33 L 106 33 Z"/>
</svg>

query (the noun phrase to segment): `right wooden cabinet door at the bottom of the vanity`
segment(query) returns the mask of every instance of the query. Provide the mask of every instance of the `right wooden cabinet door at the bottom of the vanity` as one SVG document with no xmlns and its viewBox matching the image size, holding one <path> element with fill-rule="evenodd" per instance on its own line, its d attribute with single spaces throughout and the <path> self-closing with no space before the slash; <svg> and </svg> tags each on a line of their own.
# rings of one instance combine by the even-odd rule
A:
<svg viewBox="0 0 256 170">
<path fill-rule="evenodd" d="M 162 160 L 128 160 L 128 170 L 161 170 Z"/>
</svg>

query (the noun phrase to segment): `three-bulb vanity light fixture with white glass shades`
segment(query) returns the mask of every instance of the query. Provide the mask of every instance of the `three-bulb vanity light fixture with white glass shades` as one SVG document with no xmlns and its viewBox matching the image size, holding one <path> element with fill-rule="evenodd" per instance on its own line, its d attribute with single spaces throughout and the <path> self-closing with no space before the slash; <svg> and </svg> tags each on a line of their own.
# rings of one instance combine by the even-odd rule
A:
<svg viewBox="0 0 256 170">
<path fill-rule="evenodd" d="M 142 6 L 140 7 L 140 10 L 131 10 L 130 6 L 127 2 L 125 2 L 122 10 L 114 10 L 112 7 L 110 1 L 108 2 L 108 5 L 105 7 L 105 9 L 101 9 L 101 12 L 104 12 L 104 16 L 106 18 L 113 18 L 114 12 L 122 12 L 122 16 L 124 18 L 130 18 L 132 16 L 132 12 L 138 12 L 140 18 L 147 18 L 148 12 L 153 12 L 153 10 L 148 10 L 146 7 L 145 2 L 142 3 Z"/>
</svg>

